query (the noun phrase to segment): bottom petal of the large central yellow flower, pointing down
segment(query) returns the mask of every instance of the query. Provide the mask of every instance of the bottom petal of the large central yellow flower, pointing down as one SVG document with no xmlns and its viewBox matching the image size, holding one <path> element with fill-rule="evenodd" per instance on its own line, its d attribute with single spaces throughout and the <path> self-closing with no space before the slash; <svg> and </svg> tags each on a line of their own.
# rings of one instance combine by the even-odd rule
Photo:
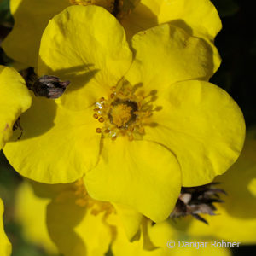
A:
<svg viewBox="0 0 256 256">
<path fill-rule="evenodd" d="M 84 182 L 96 200 L 124 204 L 155 222 L 167 218 L 180 192 L 181 176 L 168 149 L 146 141 L 104 139 L 97 166 Z"/>
</svg>

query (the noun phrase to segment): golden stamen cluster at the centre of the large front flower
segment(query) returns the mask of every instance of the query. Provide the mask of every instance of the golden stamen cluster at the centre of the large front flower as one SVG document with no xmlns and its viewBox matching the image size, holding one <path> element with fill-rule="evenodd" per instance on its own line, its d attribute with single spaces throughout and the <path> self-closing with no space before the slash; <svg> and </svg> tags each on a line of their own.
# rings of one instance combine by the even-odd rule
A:
<svg viewBox="0 0 256 256">
<path fill-rule="evenodd" d="M 102 97 L 95 104 L 93 117 L 102 124 L 96 132 L 113 140 L 119 136 L 126 136 L 131 141 L 143 139 L 144 125 L 154 111 L 152 101 L 156 92 L 151 92 L 148 99 L 142 91 L 137 92 L 137 86 L 132 87 L 127 81 L 119 82 L 111 90 L 108 99 Z"/>
</svg>

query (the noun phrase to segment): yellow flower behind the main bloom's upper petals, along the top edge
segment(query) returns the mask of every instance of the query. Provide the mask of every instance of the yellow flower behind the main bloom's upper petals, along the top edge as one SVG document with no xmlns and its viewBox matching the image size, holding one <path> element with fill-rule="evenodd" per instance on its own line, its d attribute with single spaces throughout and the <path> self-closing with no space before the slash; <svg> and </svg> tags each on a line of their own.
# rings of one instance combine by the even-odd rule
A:
<svg viewBox="0 0 256 256">
<path fill-rule="evenodd" d="M 15 61 L 35 67 L 41 36 L 49 20 L 72 4 L 96 4 L 113 12 L 113 0 L 10 0 L 15 26 L 3 42 L 3 49 Z M 190 35 L 204 38 L 212 47 L 214 70 L 220 58 L 213 39 L 221 29 L 218 12 L 209 0 L 124 0 L 119 1 L 119 21 L 129 38 L 139 31 L 171 22 Z M 134 9 L 134 5 L 136 8 Z M 121 10 L 121 11 L 120 11 Z M 212 73 L 211 73 L 212 75 Z"/>
</svg>

